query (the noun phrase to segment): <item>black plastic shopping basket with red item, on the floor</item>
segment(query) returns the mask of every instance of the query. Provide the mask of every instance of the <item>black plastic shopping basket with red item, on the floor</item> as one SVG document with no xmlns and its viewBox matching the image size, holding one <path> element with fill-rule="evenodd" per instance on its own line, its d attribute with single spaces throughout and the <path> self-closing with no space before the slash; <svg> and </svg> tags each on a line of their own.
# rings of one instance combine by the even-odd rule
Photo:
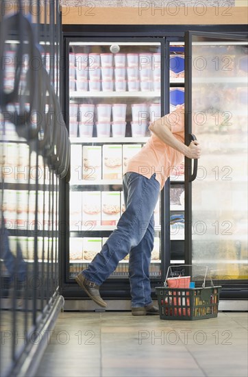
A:
<svg viewBox="0 0 248 377">
<path fill-rule="evenodd" d="M 194 265 L 206 268 L 201 288 L 170 288 L 167 287 L 167 279 L 171 267 L 182 266 L 169 266 L 164 287 L 155 288 L 160 319 L 193 321 L 217 317 L 221 286 L 214 286 L 208 267 Z M 205 287 L 207 273 L 210 276 L 211 287 Z"/>
</svg>

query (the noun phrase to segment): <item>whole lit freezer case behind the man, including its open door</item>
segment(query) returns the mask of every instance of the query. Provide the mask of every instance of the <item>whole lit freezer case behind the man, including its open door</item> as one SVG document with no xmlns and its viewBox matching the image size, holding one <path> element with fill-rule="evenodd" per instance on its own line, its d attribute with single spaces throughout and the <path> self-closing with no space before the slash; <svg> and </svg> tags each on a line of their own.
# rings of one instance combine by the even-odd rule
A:
<svg viewBox="0 0 248 377">
<path fill-rule="evenodd" d="M 164 283 L 169 265 L 208 265 L 223 285 L 221 297 L 246 294 L 246 43 L 242 37 L 202 32 L 178 38 L 64 38 L 71 180 L 64 196 L 69 231 L 62 276 L 64 296 L 78 297 L 80 308 L 92 306 L 72 283 L 125 210 L 121 178 L 127 160 L 149 138 L 149 123 L 181 104 L 185 143 L 195 134 L 202 156 L 194 182 L 193 162 L 183 158 L 160 193 L 151 287 Z M 186 270 L 176 267 L 175 273 Z M 198 270 L 188 272 L 202 278 Z M 107 300 L 130 298 L 128 256 L 101 293 Z"/>
</svg>

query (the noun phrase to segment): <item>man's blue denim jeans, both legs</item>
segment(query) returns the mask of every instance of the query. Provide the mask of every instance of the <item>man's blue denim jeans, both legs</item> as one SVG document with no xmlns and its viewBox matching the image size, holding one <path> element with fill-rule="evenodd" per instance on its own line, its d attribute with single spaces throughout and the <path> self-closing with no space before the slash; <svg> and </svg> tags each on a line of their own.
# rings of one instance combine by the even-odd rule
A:
<svg viewBox="0 0 248 377">
<path fill-rule="evenodd" d="M 101 285 L 114 272 L 119 261 L 129 254 L 133 307 L 147 306 L 152 302 L 149 265 L 154 241 L 153 212 L 159 193 L 156 173 L 150 179 L 132 172 L 123 176 L 126 210 L 101 252 L 82 271 L 88 280 Z"/>
</svg>

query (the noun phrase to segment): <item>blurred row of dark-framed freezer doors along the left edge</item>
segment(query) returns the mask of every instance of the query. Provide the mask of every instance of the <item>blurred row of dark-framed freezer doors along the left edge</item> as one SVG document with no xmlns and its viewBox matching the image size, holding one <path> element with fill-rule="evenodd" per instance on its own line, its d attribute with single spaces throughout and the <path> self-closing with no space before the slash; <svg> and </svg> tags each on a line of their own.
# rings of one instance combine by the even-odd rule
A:
<svg viewBox="0 0 248 377">
<path fill-rule="evenodd" d="M 70 144 L 60 110 L 60 5 L 0 6 L 0 374 L 32 376 L 63 305 L 59 196 Z"/>
</svg>

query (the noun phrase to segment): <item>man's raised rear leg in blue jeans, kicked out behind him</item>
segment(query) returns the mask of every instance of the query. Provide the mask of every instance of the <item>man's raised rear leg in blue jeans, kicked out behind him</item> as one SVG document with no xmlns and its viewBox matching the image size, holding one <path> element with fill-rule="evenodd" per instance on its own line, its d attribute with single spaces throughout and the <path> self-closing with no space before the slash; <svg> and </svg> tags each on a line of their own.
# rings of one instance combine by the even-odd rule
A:
<svg viewBox="0 0 248 377">
<path fill-rule="evenodd" d="M 84 278 L 97 286 L 110 276 L 119 261 L 125 258 L 132 247 L 140 243 L 158 202 L 160 184 L 155 175 L 148 179 L 138 173 L 127 173 L 123 179 L 123 186 L 126 210 L 119 219 L 116 230 L 103 245 L 101 252 L 81 273 Z M 82 276 L 79 276 L 80 280 Z M 80 286 L 84 289 L 84 282 Z"/>
</svg>

